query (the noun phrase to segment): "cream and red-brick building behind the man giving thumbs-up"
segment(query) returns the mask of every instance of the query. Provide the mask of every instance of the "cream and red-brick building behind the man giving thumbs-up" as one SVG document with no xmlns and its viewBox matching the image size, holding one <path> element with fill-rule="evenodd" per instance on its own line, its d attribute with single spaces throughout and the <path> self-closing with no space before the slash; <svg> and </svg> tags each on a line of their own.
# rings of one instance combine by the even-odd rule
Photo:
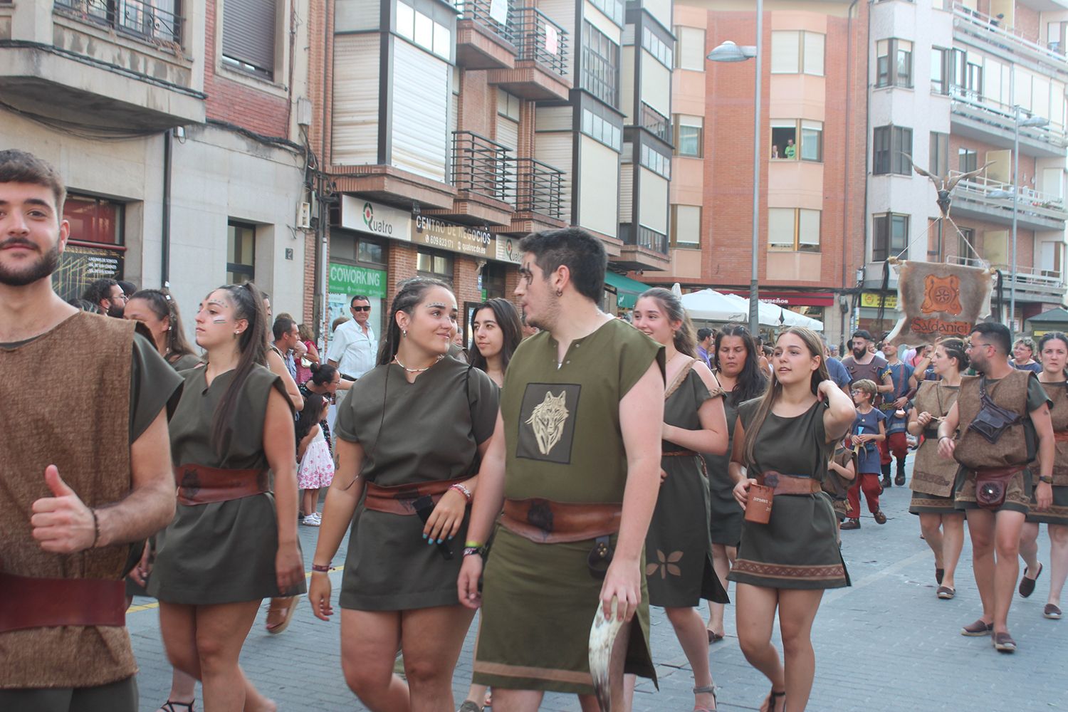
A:
<svg viewBox="0 0 1068 712">
<path fill-rule="evenodd" d="M 70 241 L 53 278 L 64 298 L 100 276 L 169 282 L 191 335 L 205 294 L 254 279 L 276 310 L 304 316 L 307 11 L 0 2 L 0 146 L 66 180 Z"/>
</svg>

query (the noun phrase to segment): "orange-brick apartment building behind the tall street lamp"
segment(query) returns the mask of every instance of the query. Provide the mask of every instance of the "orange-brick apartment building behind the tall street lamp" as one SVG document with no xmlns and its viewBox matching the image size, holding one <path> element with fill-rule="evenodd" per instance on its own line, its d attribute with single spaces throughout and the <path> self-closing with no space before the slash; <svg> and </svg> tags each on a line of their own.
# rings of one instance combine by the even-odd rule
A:
<svg viewBox="0 0 1068 712">
<path fill-rule="evenodd" d="M 867 3 L 764 3 L 760 298 L 850 328 L 863 262 Z M 756 44 L 750 2 L 676 2 L 671 266 L 643 281 L 748 296 L 752 265 L 754 63 L 713 63 Z"/>
</svg>

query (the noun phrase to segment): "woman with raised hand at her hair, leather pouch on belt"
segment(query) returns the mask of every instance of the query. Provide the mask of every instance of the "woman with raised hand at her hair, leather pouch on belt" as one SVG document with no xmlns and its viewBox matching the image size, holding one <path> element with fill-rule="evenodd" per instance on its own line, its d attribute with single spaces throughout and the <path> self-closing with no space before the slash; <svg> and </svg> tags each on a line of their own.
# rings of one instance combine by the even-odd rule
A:
<svg viewBox="0 0 1068 712">
<path fill-rule="evenodd" d="M 760 709 L 800 712 L 816 671 L 812 623 L 823 589 L 849 585 L 822 480 L 834 443 L 852 426 L 855 411 L 830 380 L 823 344 L 807 329 L 787 329 L 779 336 L 772 374 L 765 396 L 738 410 L 731 474 L 743 507 L 753 485 L 776 492 L 767 524 L 742 523 L 729 579 L 738 585 L 738 643 L 771 681 Z M 771 644 L 776 608 L 785 664 Z"/>
</svg>

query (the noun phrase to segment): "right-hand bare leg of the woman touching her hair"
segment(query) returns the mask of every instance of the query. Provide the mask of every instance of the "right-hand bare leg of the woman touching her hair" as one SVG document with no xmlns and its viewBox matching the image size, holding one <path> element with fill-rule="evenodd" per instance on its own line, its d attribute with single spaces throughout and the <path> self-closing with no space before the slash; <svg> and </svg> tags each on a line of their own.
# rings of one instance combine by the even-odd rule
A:
<svg viewBox="0 0 1068 712">
<path fill-rule="evenodd" d="M 786 661 L 784 712 L 803 712 L 816 676 L 816 651 L 812 647 L 812 621 L 823 598 L 821 589 L 779 591 L 779 630 L 783 634 Z"/>
</svg>

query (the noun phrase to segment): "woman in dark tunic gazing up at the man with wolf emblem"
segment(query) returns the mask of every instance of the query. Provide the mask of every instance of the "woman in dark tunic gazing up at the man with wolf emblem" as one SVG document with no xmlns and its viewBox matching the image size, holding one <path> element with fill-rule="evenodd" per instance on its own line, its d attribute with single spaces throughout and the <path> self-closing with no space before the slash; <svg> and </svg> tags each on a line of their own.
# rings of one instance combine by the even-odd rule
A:
<svg viewBox="0 0 1068 712">
<path fill-rule="evenodd" d="M 378 365 L 337 409 L 337 471 L 327 492 L 309 600 L 327 620 L 330 559 L 351 522 L 342 670 L 373 710 L 452 709 L 472 613 L 458 604 L 468 505 L 497 422 L 497 386 L 446 358 L 456 298 L 438 280 L 403 282 Z M 407 683 L 393 674 L 404 653 Z"/>
</svg>

